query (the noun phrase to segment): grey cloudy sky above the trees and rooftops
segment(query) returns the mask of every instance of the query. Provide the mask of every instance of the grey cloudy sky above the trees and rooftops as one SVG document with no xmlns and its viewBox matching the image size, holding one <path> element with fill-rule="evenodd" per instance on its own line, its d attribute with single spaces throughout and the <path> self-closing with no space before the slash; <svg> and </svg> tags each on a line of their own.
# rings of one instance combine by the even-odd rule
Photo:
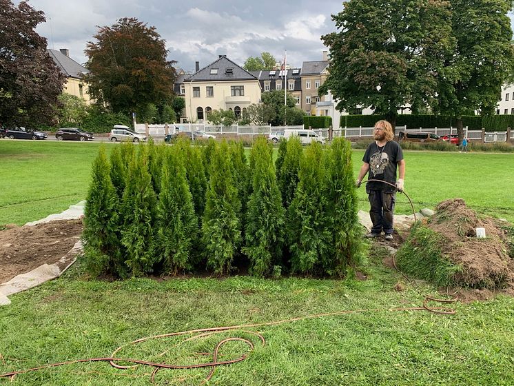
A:
<svg viewBox="0 0 514 386">
<path fill-rule="evenodd" d="M 14 1 L 19 3 L 19 1 Z M 154 26 L 165 39 L 168 59 L 177 67 L 203 68 L 227 54 L 243 65 L 248 57 L 268 51 L 287 63 L 322 59 L 320 36 L 335 30 L 331 14 L 342 10 L 342 0 L 29 0 L 45 12 L 37 32 L 48 47 L 68 48 L 70 57 L 84 63 L 84 50 L 98 26 L 112 26 L 122 17 L 136 17 Z"/>
</svg>

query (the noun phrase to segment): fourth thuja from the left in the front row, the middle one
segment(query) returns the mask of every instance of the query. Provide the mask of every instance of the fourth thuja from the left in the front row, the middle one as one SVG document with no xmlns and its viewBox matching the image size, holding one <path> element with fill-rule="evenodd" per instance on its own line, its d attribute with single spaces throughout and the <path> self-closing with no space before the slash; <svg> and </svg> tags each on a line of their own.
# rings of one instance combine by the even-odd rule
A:
<svg viewBox="0 0 514 386">
<path fill-rule="evenodd" d="M 225 141 L 216 145 L 210 167 L 207 204 L 203 214 L 202 239 L 207 265 L 223 274 L 231 268 L 241 244 L 240 211 L 234 185 L 229 147 Z"/>
</svg>

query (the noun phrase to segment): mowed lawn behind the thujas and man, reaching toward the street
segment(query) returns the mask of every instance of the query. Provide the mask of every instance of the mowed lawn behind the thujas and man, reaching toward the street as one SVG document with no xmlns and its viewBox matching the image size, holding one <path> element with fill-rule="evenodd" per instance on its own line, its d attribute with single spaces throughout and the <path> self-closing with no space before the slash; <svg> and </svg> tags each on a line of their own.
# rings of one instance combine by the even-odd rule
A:
<svg viewBox="0 0 514 386">
<path fill-rule="evenodd" d="M 116 144 L 105 143 L 107 153 Z M 87 194 L 90 167 L 101 143 L 0 141 L 0 225 L 41 219 Z M 353 152 L 357 175 L 363 150 Z M 514 154 L 406 151 L 405 192 L 415 210 L 462 198 L 477 212 L 514 222 Z M 359 207 L 368 210 L 364 186 Z M 397 213 L 412 212 L 398 194 Z"/>
</svg>

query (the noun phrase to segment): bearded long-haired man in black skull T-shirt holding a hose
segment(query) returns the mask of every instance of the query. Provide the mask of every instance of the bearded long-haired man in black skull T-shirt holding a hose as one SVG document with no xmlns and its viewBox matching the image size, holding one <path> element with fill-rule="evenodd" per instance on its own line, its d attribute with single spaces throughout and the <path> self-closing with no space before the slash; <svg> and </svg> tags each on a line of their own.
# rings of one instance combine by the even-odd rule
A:
<svg viewBox="0 0 514 386">
<path fill-rule="evenodd" d="M 368 194 L 369 216 L 373 227 L 367 238 L 379 237 L 382 230 L 387 241 L 393 240 L 393 214 L 396 190 L 402 192 L 403 179 L 405 176 L 405 161 L 403 159 L 402 148 L 398 142 L 393 141 L 394 134 L 391 123 L 378 121 L 373 129 L 375 141 L 371 143 L 364 157 L 362 167 L 356 181 L 356 187 L 364 176 L 369 172 L 369 181 L 366 184 Z M 399 178 L 396 180 L 396 169 L 398 167 Z"/>
</svg>

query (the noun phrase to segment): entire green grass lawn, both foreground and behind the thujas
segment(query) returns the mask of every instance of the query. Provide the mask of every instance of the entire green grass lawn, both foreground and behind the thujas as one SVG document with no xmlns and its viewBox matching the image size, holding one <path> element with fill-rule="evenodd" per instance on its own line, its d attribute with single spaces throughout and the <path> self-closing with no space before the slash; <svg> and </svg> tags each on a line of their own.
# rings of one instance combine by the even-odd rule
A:
<svg viewBox="0 0 514 386">
<path fill-rule="evenodd" d="M 106 144 L 107 151 L 113 145 Z M 98 143 L 0 141 L 3 165 L 0 224 L 24 223 L 59 212 L 85 198 Z M 354 155 L 360 167 L 362 151 Z M 416 209 L 462 197 L 475 210 L 514 220 L 511 175 L 514 154 L 406 152 L 406 190 Z M 359 191 L 367 209 L 364 189 Z M 409 212 L 398 197 L 398 209 Z M 144 336 L 189 329 L 246 325 L 339 310 L 380 309 L 309 318 L 207 336 L 177 345 L 152 340 L 125 347 L 119 356 L 190 364 L 210 360 L 221 338 L 251 338 L 247 360 L 216 369 L 208 385 L 513 385 L 514 298 L 457 303 L 457 313 L 391 312 L 418 307 L 421 296 L 393 288 L 401 276 L 382 265 L 386 252 L 372 249 L 360 270 L 366 281 L 251 277 L 92 281 L 81 263 L 65 275 L 10 296 L 0 307 L 0 373 L 64 360 L 110 356 Z M 426 294 L 433 287 L 421 285 Z M 235 334 L 235 335 L 234 335 Z M 229 343 L 220 360 L 240 356 Z M 161 353 L 164 353 L 161 355 Z M 75 364 L 23 374 L 6 385 L 151 385 L 152 369 L 127 371 L 107 363 Z M 156 385 L 199 385 L 209 369 L 163 370 Z"/>
</svg>

